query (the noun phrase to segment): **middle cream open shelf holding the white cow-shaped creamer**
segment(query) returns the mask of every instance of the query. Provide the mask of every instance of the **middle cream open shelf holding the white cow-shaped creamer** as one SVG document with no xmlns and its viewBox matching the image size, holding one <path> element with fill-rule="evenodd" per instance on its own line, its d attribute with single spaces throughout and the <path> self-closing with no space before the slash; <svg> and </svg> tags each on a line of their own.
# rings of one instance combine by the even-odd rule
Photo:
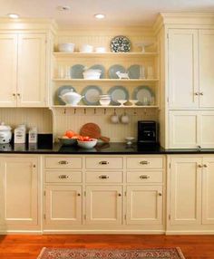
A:
<svg viewBox="0 0 214 259">
<path fill-rule="evenodd" d="M 158 82 L 159 79 L 66 79 L 54 78 L 53 82 Z"/>
</svg>

